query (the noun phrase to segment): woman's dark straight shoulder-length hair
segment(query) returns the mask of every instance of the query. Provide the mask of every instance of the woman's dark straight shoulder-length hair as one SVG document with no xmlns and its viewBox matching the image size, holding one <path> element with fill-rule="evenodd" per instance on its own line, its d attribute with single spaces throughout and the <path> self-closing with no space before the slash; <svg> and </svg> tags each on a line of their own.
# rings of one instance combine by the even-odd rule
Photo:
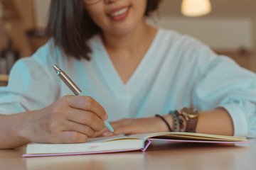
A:
<svg viewBox="0 0 256 170">
<path fill-rule="evenodd" d="M 145 16 L 156 10 L 161 0 L 147 1 Z M 51 0 L 46 34 L 66 55 L 90 60 L 87 40 L 97 33 L 100 28 L 84 10 L 82 0 Z"/>
</svg>

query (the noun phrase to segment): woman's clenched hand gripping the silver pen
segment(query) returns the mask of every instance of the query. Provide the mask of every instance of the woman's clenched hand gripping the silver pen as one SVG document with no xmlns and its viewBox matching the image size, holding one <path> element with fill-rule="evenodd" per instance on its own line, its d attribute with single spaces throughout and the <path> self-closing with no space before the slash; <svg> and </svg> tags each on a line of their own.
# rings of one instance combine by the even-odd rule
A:
<svg viewBox="0 0 256 170">
<path fill-rule="evenodd" d="M 89 96 L 64 96 L 50 106 L 27 113 L 21 136 L 29 142 L 78 143 L 104 128 L 107 113 Z"/>
</svg>

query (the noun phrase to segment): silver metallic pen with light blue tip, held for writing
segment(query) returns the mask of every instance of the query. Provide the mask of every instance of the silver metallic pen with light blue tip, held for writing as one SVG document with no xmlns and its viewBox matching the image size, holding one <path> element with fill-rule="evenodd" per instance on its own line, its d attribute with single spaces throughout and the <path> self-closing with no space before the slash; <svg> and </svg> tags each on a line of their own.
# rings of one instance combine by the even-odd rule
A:
<svg viewBox="0 0 256 170">
<path fill-rule="evenodd" d="M 57 65 L 53 65 L 53 69 L 58 74 L 58 77 L 64 81 L 64 83 L 69 87 L 71 91 L 75 94 L 75 96 L 78 96 L 82 91 L 78 88 L 78 86 L 75 85 L 75 83 L 68 77 L 63 70 L 61 70 Z M 114 134 L 114 129 L 110 125 L 109 122 L 104 121 L 105 127 L 110 130 Z"/>
</svg>

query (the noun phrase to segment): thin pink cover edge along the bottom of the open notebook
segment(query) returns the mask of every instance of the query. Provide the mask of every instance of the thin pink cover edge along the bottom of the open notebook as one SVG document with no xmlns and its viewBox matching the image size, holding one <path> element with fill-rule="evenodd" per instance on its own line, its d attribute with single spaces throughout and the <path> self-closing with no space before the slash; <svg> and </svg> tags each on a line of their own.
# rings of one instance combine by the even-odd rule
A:
<svg viewBox="0 0 256 170">
<path fill-rule="evenodd" d="M 54 157 L 54 156 L 68 156 L 68 155 L 82 155 L 82 154 L 106 154 L 106 153 L 114 153 L 114 152 L 131 152 L 142 150 L 142 152 L 146 152 L 151 141 L 167 141 L 167 142 L 193 142 L 193 143 L 216 143 L 216 144 L 250 144 L 251 141 L 245 142 L 229 142 L 229 141 L 207 141 L 207 140 L 165 140 L 165 139 L 156 139 L 149 138 L 144 140 L 142 148 L 136 149 L 119 149 L 119 150 L 110 150 L 110 151 L 98 151 L 98 152 L 75 152 L 75 153 L 61 153 L 61 154 L 23 154 L 22 157 Z"/>
</svg>

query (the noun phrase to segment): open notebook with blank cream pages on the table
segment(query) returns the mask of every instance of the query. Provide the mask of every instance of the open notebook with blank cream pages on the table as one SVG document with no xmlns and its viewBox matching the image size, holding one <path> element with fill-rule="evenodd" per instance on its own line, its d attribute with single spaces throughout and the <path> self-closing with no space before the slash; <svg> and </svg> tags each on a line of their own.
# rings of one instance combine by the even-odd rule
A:
<svg viewBox="0 0 256 170">
<path fill-rule="evenodd" d="M 41 144 L 26 145 L 23 157 L 46 157 L 73 154 L 97 154 L 106 152 L 126 152 L 134 150 L 146 151 L 151 141 L 169 142 L 201 142 L 201 143 L 250 143 L 245 137 L 223 135 L 206 135 L 188 132 L 159 132 L 139 135 L 117 135 L 113 137 L 97 137 L 80 144 Z"/>
</svg>

